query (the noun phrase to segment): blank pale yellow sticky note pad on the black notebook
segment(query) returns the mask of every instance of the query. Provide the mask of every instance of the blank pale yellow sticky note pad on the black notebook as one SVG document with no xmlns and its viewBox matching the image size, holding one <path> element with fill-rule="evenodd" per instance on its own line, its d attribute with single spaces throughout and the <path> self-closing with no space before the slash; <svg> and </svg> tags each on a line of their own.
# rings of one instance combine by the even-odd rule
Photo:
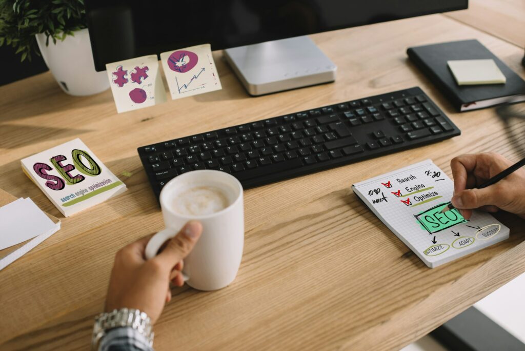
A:
<svg viewBox="0 0 525 351">
<path fill-rule="evenodd" d="M 447 61 L 458 85 L 505 84 L 507 79 L 493 59 Z"/>
</svg>

